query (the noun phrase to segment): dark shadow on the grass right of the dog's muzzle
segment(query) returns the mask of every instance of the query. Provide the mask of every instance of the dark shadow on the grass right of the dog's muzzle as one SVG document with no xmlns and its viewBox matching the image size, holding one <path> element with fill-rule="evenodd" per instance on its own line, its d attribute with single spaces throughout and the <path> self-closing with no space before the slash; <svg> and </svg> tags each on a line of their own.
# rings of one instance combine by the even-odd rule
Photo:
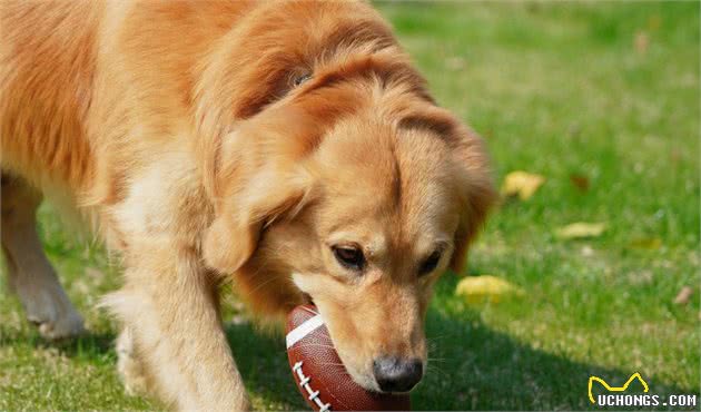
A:
<svg viewBox="0 0 701 412">
<path fill-rule="evenodd" d="M 416 410 L 601 410 L 589 401 L 589 377 L 600 376 L 619 386 L 636 372 L 573 362 L 480 322 L 436 312 L 430 313 L 427 336 L 437 336 L 431 356 L 438 359 L 415 390 Z M 689 393 L 661 384 L 654 376 L 644 379 L 650 394 Z M 594 386 L 593 392 L 596 396 L 605 390 Z M 642 393 L 642 385 L 635 382 L 626 393 Z"/>
</svg>

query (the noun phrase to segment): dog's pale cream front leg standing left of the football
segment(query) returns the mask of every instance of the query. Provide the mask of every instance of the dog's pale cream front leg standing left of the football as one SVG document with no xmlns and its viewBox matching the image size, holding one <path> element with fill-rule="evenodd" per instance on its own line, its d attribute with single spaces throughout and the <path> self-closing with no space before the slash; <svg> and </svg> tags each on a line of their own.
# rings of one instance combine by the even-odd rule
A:
<svg viewBox="0 0 701 412">
<path fill-rule="evenodd" d="M 148 389 L 179 410 L 249 408 L 221 328 L 216 288 L 195 251 L 141 245 L 106 303 L 125 322 Z"/>
</svg>

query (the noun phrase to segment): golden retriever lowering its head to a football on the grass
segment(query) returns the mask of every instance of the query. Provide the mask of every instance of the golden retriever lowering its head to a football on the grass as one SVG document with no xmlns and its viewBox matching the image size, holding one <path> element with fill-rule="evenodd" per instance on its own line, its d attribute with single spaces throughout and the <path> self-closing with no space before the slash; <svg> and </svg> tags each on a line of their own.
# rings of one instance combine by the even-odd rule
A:
<svg viewBox="0 0 701 412">
<path fill-rule="evenodd" d="M 432 285 L 494 199 L 481 139 L 363 2 L 1 1 L 2 251 L 49 339 L 80 333 L 37 236 L 56 197 L 120 257 L 128 389 L 249 408 L 223 332 L 313 301 L 353 379 L 409 391 Z"/>
</svg>

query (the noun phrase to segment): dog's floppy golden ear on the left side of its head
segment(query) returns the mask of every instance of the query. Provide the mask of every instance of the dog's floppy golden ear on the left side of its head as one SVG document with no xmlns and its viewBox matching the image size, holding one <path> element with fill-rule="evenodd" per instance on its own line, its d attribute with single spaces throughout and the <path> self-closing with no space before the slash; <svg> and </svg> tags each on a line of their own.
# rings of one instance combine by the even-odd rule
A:
<svg viewBox="0 0 701 412">
<path fill-rule="evenodd" d="M 304 206 L 312 185 L 294 160 L 244 141 L 239 145 L 235 134 L 225 139 L 216 155 L 220 165 L 210 188 L 215 219 L 205 233 L 203 255 L 209 267 L 234 273 L 253 255 L 265 226 L 294 216 Z"/>
</svg>

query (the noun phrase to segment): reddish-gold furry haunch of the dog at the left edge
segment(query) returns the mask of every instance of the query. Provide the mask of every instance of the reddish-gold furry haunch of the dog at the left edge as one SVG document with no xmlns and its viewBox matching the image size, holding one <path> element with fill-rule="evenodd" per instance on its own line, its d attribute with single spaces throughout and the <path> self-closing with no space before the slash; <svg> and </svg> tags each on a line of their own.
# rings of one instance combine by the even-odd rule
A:
<svg viewBox="0 0 701 412">
<path fill-rule="evenodd" d="M 71 183 L 90 169 L 85 119 L 92 95 L 92 2 L 0 3 L 2 168 L 39 184 Z"/>
</svg>

